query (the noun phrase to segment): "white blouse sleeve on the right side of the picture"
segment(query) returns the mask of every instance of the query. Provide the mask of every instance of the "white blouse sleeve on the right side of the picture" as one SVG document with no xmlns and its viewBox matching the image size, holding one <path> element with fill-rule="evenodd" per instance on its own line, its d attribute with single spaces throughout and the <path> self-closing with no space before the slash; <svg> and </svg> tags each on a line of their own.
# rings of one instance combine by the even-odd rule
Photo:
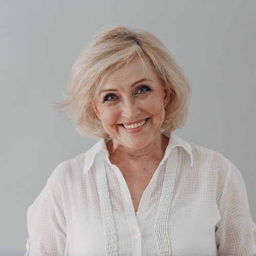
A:
<svg viewBox="0 0 256 256">
<path fill-rule="evenodd" d="M 256 255 L 256 225 L 252 222 L 244 180 L 228 160 L 216 226 L 218 255 Z"/>
</svg>

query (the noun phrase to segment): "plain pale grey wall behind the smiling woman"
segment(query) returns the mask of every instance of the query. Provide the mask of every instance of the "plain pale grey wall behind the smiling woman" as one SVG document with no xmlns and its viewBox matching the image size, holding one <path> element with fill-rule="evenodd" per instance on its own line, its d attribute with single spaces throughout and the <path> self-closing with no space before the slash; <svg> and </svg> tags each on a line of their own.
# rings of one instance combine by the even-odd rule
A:
<svg viewBox="0 0 256 256">
<path fill-rule="evenodd" d="M 86 152 L 54 112 L 76 56 L 105 26 L 158 36 L 193 90 L 181 138 L 230 159 L 256 222 L 256 1 L 1 1 L 0 254 L 24 254 L 26 214 L 53 169 Z"/>
</svg>

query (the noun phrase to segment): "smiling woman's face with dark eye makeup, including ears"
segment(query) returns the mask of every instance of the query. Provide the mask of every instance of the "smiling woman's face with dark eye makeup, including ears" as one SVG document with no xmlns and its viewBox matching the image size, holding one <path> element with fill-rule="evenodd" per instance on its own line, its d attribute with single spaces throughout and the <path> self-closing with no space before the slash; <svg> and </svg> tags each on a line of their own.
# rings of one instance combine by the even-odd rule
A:
<svg viewBox="0 0 256 256">
<path fill-rule="evenodd" d="M 132 59 L 113 72 L 92 102 L 104 130 L 113 141 L 139 149 L 159 138 L 170 92 L 153 72 L 150 61 Z"/>
</svg>

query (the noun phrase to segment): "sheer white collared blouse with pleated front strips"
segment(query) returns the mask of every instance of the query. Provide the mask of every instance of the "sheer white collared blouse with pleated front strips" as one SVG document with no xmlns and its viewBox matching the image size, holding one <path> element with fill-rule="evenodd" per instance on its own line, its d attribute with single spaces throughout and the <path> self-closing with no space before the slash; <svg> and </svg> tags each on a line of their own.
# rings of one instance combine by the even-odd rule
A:
<svg viewBox="0 0 256 256">
<path fill-rule="evenodd" d="M 174 133 L 136 215 L 101 139 L 55 168 L 27 221 L 26 255 L 256 255 L 237 167 Z"/>
</svg>

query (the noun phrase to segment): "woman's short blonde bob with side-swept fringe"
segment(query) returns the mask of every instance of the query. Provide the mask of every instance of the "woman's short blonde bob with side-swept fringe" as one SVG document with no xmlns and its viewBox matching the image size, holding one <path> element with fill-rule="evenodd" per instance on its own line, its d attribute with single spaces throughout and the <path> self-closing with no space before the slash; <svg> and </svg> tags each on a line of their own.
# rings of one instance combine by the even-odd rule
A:
<svg viewBox="0 0 256 256">
<path fill-rule="evenodd" d="M 115 26 L 98 32 L 82 50 L 72 67 L 65 100 L 55 103 L 58 112 L 73 119 L 82 136 L 110 136 L 92 109 L 91 101 L 104 79 L 136 56 L 150 60 L 163 86 L 171 92 L 161 130 L 170 133 L 184 126 L 191 89 L 172 54 L 147 31 Z"/>
</svg>

